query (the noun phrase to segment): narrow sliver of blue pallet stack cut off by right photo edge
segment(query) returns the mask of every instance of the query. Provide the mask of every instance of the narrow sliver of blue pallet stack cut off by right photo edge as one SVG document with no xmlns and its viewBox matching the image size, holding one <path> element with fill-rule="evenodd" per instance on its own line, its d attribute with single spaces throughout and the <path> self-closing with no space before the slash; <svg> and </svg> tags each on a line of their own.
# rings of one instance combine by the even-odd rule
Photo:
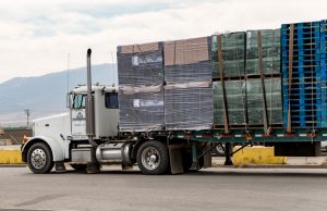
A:
<svg viewBox="0 0 327 211">
<path fill-rule="evenodd" d="M 327 21 L 320 22 L 322 127 L 327 127 Z"/>
</svg>

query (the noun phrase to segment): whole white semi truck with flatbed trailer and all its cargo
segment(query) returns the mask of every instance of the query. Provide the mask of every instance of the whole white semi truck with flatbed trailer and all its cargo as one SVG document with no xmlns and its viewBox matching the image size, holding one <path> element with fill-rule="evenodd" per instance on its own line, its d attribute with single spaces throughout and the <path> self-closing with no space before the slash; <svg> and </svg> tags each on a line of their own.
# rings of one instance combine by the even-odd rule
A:
<svg viewBox="0 0 327 211">
<path fill-rule="evenodd" d="M 88 49 L 87 86 L 68 95 L 68 113 L 34 121 L 22 159 L 37 174 L 69 163 L 87 173 L 137 164 L 157 175 L 209 167 L 217 146 L 227 165 L 252 144 L 320 156 L 326 32 L 320 21 L 119 47 L 119 87 L 92 85 Z"/>
</svg>

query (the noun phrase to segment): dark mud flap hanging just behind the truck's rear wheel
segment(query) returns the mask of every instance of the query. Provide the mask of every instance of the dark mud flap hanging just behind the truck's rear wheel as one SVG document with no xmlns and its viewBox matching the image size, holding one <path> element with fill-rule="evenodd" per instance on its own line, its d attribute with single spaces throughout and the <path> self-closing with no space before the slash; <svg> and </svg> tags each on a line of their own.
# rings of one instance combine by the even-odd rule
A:
<svg viewBox="0 0 327 211">
<path fill-rule="evenodd" d="M 183 156 L 180 145 L 170 145 L 169 147 L 170 170 L 172 174 L 183 174 Z"/>
</svg>

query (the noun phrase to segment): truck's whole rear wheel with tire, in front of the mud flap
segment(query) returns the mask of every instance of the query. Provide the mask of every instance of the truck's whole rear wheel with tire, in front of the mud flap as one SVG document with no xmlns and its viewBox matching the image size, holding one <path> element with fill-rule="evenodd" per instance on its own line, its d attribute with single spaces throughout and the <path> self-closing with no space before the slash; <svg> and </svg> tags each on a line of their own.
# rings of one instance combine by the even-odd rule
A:
<svg viewBox="0 0 327 211">
<path fill-rule="evenodd" d="M 168 148 L 157 140 L 145 141 L 137 151 L 136 161 L 144 174 L 165 174 L 170 169 Z"/>
</svg>

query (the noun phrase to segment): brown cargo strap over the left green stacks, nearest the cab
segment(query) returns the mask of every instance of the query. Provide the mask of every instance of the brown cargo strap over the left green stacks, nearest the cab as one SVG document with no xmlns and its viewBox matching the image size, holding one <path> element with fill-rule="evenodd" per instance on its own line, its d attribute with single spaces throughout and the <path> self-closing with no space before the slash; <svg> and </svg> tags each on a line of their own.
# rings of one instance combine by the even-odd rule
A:
<svg viewBox="0 0 327 211">
<path fill-rule="evenodd" d="M 221 35 L 217 35 L 217 47 L 218 47 L 218 70 L 219 76 L 221 82 L 221 89 L 222 89 L 222 104 L 223 104 L 223 132 L 225 134 L 229 134 L 229 120 L 228 120 L 228 107 L 227 107 L 227 97 L 226 97 L 226 89 L 225 89 L 225 74 L 223 74 L 223 58 L 222 58 L 222 50 L 221 50 Z"/>
</svg>

